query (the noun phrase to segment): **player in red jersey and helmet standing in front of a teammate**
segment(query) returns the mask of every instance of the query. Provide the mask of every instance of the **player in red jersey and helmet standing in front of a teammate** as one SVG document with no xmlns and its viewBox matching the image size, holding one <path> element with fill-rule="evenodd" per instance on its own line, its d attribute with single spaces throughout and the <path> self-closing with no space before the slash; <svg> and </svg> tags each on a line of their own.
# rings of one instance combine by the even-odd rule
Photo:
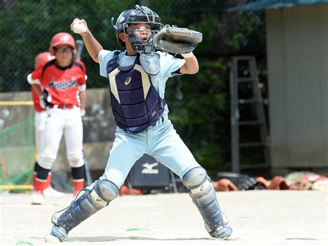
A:
<svg viewBox="0 0 328 246">
<path fill-rule="evenodd" d="M 44 87 L 47 112 L 45 148 L 37 161 L 33 204 L 44 202 L 46 177 L 57 157 L 63 133 L 66 155 L 72 170 L 74 195 L 84 187 L 81 112 L 85 112 L 85 67 L 82 62 L 73 60 L 76 54 L 75 40 L 69 33 L 53 36 L 49 51 L 55 55 L 55 59 L 34 71 L 31 76 L 32 87 L 41 98 L 41 87 Z"/>
</svg>

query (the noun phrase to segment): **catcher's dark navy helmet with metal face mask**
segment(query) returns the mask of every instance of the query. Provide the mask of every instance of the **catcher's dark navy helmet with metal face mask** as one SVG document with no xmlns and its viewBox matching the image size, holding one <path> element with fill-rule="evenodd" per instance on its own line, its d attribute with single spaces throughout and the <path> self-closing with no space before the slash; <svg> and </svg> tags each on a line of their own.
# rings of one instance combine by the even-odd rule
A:
<svg viewBox="0 0 328 246">
<path fill-rule="evenodd" d="M 131 46 L 132 49 L 136 52 L 141 53 L 152 53 L 154 51 L 154 36 L 158 33 L 159 30 L 163 27 L 161 24 L 161 18 L 156 14 L 156 12 L 152 11 L 150 8 L 145 6 L 136 5 L 131 10 L 123 11 L 116 20 L 116 24 L 113 24 L 114 18 L 111 18 L 111 24 L 115 28 L 116 37 L 118 39 L 118 44 L 120 44 L 121 48 L 125 47 L 125 42 L 122 42 L 118 35 L 120 33 L 124 33 Z M 138 30 L 134 30 L 134 25 L 136 24 L 149 24 L 150 30 L 146 30 L 151 32 L 150 35 L 147 35 L 147 42 L 144 44 L 138 35 L 135 33 Z M 128 33 L 127 28 L 131 26 L 131 30 L 134 30 L 131 33 Z"/>
</svg>

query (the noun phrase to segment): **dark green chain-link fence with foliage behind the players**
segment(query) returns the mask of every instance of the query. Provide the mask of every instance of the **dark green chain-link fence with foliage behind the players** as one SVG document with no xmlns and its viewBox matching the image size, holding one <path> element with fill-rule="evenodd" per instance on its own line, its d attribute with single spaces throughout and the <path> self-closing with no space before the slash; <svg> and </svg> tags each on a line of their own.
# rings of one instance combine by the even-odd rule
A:
<svg viewBox="0 0 328 246">
<path fill-rule="evenodd" d="M 176 130 L 204 166 L 230 166 L 229 62 L 234 55 L 255 55 L 266 98 L 266 32 L 264 12 L 228 12 L 247 0 L 0 0 L 0 92 L 29 91 L 26 76 L 34 58 L 48 51 L 55 33 L 72 33 L 75 17 L 86 19 L 104 49 L 119 49 L 111 17 L 134 7 L 149 6 L 163 24 L 199 30 L 203 42 L 194 53 L 200 64 L 195 76 L 167 82 L 165 97 Z M 75 39 L 80 35 L 73 34 Z M 98 64 L 85 51 L 88 88 L 107 87 Z M 201 117 L 200 117 L 201 116 Z M 210 168 L 211 169 L 211 168 Z"/>
</svg>

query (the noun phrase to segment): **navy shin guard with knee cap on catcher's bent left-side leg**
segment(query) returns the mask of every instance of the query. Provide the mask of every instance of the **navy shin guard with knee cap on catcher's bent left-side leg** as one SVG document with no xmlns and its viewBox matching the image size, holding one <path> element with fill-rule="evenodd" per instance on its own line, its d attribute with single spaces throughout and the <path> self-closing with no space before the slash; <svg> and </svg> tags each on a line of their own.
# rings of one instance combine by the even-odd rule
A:
<svg viewBox="0 0 328 246">
<path fill-rule="evenodd" d="M 66 240 L 71 229 L 106 207 L 109 202 L 118 196 L 118 193 L 119 190 L 116 184 L 107 179 L 98 180 L 91 191 L 84 191 L 58 218 L 57 213 L 60 212 L 53 215 L 52 222 L 55 227 L 52 233 L 60 240 Z"/>
</svg>

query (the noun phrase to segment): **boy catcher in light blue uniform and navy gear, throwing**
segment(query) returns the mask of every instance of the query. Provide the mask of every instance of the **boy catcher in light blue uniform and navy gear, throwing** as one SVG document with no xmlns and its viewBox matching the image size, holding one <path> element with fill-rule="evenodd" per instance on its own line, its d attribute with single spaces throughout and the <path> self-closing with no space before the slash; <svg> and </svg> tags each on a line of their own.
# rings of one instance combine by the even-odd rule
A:
<svg viewBox="0 0 328 246">
<path fill-rule="evenodd" d="M 71 24 L 72 30 L 74 24 L 86 26 L 80 35 L 91 58 L 100 64 L 100 75 L 109 80 L 116 139 L 104 174 L 81 191 L 64 212 L 54 214 L 53 228 L 46 241 L 65 241 L 71 229 L 115 199 L 129 170 L 144 153 L 181 177 L 210 236 L 226 238 L 232 234 L 210 177 L 167 117 L 169 110 L 164 97 L 167 79 L 197 73 L 199 65 L 192 52 L 182 53 L 184 59 L 177 59 L 154 51 L 154 37 L 163 26 L 160 21 L 156 12 L 145 6 L 125 10 L 116 24 L 112 18 L 118 43 L 124 51 L 102 49 L 83 19 L 74 19 Z"/>
</svg>

